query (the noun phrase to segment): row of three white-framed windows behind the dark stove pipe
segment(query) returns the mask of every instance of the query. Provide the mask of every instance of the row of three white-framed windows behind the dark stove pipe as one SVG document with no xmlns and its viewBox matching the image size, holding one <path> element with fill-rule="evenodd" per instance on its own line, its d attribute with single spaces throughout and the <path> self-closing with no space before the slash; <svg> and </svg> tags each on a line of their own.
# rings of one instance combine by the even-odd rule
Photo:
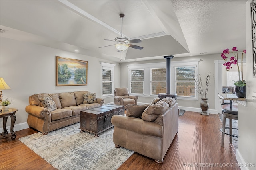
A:
<svg viewBox="0 0 256 170">
<path fill-rule="evenodd" d="M 199 59 L 171 61 L 170 68 L 170 93 L 178 94 L 179 99 L 198 100 L 198 95 L 183 73 L 198 74 Z M 129 91 L 138 96 L 157 96 L 166 93 L 166 62 L 143 63 L 127 65 L 129 69 Z M 177 69 L 178 68 L 178 80 Z M 182 69 L 183 68 L 183 69 Z M 182 79 L 183 78 L 183 79 Z M 186 77 L 185 77 L 186 78 Z M 190 77 L 191 79 L 191 77 Z M 194 79 L 192 79 L 194 81 Z M 177 89 L 178 87 L 178 89 Z"/>
</svg>

